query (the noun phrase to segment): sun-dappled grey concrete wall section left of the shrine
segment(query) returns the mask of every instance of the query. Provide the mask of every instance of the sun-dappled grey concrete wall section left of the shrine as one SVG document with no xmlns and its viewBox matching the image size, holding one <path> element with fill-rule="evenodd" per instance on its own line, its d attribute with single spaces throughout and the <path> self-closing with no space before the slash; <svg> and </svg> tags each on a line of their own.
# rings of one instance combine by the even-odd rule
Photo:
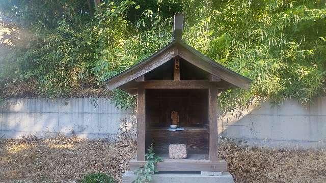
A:
<svg viewBox="0 0 326 183">
<path fill-rule="evenodd" d="M 118 110 L 110 99 L 10 99 L 0 107 L 0 136 L 62 133 L 85 138 L 115 138 L 120 119 L 132 114 Z"/>
</svg>

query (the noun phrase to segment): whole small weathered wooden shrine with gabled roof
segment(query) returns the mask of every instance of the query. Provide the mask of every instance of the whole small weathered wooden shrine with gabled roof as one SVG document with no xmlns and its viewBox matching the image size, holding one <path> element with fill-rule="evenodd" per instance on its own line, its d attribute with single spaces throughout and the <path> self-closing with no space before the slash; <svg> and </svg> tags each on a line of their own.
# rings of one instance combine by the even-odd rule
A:
<svg viewBox="0 0 326 183">
<path fill-rule="evenodd" d="M 226 171 L 218 159 L 218 93 L 251 80 L 214 62 L 182 41 L 183 14 L 173 17 L 173 40 L 130 69 L 106 80 L 109 89 L 137 94 L 137 159 L 130 170 L 145 164 L 152 142 L 164 158 L 158 171 Z M 178 112 L 183 130 L 170 131 L 171 113 Z M 169 144 L 185 144 L 186 159 L 169 159 Z"/>
</svg>

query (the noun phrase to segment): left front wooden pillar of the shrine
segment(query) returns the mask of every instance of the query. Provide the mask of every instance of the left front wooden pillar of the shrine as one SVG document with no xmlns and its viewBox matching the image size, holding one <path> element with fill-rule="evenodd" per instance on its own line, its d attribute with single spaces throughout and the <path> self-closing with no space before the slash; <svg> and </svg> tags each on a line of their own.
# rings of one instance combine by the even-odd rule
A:
<svg viewBox="0 0 326 183">
<path fill-rule="evenodd" d="M 137 90 L 137 161 L 145 161 L 145 89 Z"/>
</svg>

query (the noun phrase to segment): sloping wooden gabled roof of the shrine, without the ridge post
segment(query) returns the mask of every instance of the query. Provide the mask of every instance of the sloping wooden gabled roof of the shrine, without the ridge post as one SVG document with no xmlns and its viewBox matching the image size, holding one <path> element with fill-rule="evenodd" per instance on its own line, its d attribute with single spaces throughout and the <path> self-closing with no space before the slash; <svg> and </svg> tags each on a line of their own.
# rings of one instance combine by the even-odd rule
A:
<svg viewBox="0 0 326 183">
<path fill-rule="evenodd" d="M 120 74 L 107 79 L 105 83 L 108 89 L 118 88 L 134 80 L 135 78 L 138 78 L 147 72 L 161 66 L 175 56 L 180 56 L 198 68 L 212 75 L 218 76 L 237 87 L 248 89 L 250 83 L 252 82 L 251 79 L 244 77 L 222 66 L 219 63 L 216 63 L 214 60 L 208 58 L 182 40 L 173 40 L 164 48 L 158 50 L 137 65 L 134 65 L 131 68 L 121 72 Z"/>
</svg>

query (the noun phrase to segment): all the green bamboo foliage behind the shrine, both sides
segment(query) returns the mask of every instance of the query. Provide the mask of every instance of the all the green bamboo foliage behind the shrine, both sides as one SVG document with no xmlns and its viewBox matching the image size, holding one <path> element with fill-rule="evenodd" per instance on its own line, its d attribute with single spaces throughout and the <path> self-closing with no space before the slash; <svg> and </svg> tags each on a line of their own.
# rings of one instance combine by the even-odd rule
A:
<svg viewBox="0 0 326 183">
<path fill-rule="evenodd" d="M 8 83 L 30 81 L 47 97 L 104 88 L 107 78 L 169 43 L 172 14 L 183 12 L 185 42 L 253 79 L 249 90 L 231 89 L 219 98 L 224 111 L 254 98 L 305 104 L 325 94 L 323 0 L 104 1 L 94 16 L 92 2 L 2 1 L 0 15 L 21 31 L 0 68 L 0 92 Z M 121 108 L 134 103 L 121 91 L 113 96 Z"/>
</svg>

